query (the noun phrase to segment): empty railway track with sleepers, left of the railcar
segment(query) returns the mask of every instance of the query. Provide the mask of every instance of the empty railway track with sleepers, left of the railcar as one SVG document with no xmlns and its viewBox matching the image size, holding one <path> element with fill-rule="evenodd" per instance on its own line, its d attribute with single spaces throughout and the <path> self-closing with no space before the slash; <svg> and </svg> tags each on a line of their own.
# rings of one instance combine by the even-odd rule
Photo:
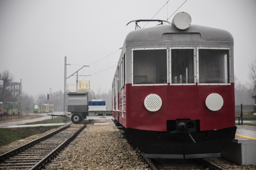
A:
<svg viewBox="0 0 256 170">
<path fill-rule="evenodd" d="M 0 169 L 40 169 L 85 127 L 68 125 L 0 155 Z"/>
</svg>

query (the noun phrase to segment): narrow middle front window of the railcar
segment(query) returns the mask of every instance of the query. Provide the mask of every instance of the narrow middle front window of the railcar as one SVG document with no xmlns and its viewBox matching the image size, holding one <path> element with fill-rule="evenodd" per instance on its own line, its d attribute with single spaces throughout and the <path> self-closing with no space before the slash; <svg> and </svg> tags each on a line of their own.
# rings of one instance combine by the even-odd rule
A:
<svg viewBox="0 0 256 170">
<path fill-rule="evenodd" d="M 194 49 L 171 49 L 171 84 L 194 83 Z"/>
</svg>

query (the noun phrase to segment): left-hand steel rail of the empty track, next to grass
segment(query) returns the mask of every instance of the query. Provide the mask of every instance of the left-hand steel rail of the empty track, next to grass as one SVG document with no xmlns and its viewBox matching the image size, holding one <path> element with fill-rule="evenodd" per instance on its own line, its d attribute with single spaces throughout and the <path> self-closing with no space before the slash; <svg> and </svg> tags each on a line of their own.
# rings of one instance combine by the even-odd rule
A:
<svg viewBox="0 0 256 170">
<path fill-rule="evenodd" d="M 72 123 L 71 123 L 71 124 L 72 124 Z M 70 124 L 68 124 L 67 126 L 62 127 L 62 128 L 60 128 L 60 129 L 58 129 L 58 130 L 52 132 L 52 133 L 49 133 L 49 134 L 47 134 L 47 135 L 44 135 L 44 136 L 42 136 L 41 138 L 35 139 L 34 141 L 31 141 L 31 142 L 29 142 L 29 143 L 27 143 L 27 144 L 24 144 L 24 145 L 22 145 L 22 146 L 20 146 L 20 147 L 18 147 L 18 148 L 15 148 L 15 149 L 13 149 L 13 150 L 11 150 L 11 151 L 9 151 L 9 152 L 6 152 L 6 153 L 0 155 L 0 161 L 4 160 L 4 159 L 6 159 L 6 158 L 9 158 L 10 156 L 12 156 L 12 155 L 14 155 L 14 154 L 17 154 L 17 153 L 20 152 L 20 151 L 23 151 L 23 150 L 25 150 L 25 149 L 27 149 L 27 148 L 30 148 L 30 147 L 33 146 L 34 144 L 37 144 L 37 143 L 39 143 L 39 142 L 41 142 L 41 141 L 43 141 L 43 140 L 45 140 L 45 139 L 47 139 L 47 138 L 50 138 L 51 136 L 53 136 L 53 135 L 59 133 L 60 131 L 65 130 L 65 129 L 68 128 L 69 126 L 70 126 Z"/>
</svg>

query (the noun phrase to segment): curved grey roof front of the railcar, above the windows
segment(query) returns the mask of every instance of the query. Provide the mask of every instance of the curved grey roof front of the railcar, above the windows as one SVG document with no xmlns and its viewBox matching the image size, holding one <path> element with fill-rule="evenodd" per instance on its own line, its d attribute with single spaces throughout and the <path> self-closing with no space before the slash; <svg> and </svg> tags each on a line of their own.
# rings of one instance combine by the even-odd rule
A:
<svg viewBox="0 0 256 170">
<path fill-rule="evenodd" d="M 207 27 L 202 25 L 190 25 L 190 27 L 185 30 L 178 30 L 171 24 L 168 24 L 168 25 L 158 25 L 158 26 L 131 31 L 126 36 L 125 44 L 133 43 L 133 42 L 159 42 L 159 41 L 179 40 L 179 39 L 175 39 L 175 40 L 163 39 L 164 34 L 172 34 L 172 33 L 173 34 L 176 34 L 176 33 L 198 34 L 199 33 L 201 37 L 199 39 L 195 39 L 195 41 L 234 42 L 233 36 L 231 35 L 231 33 L 223 29 L 217 29 L 217 28 L 212 28 L 212 27 Z M 186 40 L 183 39 L 183 41 L 186 41 Z"/>
</svg>

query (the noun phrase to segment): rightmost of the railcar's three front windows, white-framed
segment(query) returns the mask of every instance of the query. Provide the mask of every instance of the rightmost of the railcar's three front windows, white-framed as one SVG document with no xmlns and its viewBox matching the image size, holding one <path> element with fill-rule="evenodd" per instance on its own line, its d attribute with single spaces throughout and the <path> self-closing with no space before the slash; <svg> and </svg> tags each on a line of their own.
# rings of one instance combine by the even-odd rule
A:
<svg viewBox="0 0 256 170">
<path fill-rule="evenodd" d="M 198 48 L 198 73 L 199 83 L 230 83 L 229 49 Z"/>
</svg>

